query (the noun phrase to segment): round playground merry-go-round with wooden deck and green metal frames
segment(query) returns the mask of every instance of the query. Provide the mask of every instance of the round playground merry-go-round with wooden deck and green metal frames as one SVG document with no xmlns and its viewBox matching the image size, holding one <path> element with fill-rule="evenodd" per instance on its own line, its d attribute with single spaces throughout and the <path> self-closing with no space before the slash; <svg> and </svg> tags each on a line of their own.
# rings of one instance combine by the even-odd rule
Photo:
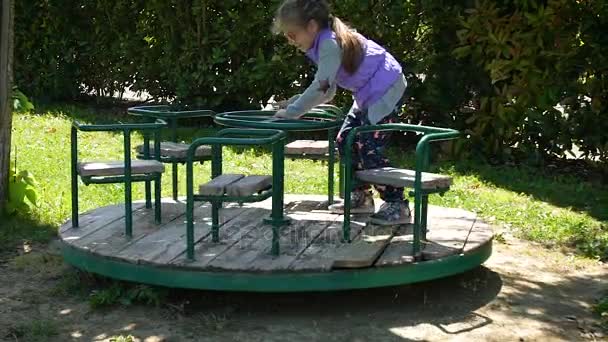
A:
<svg viewBox="0 0 608 342">
<path fill-rule="evenodd" d="M 412 170 L 354 171 L 347 167 L 349 153 L 340 160 L 344 169 L 340 187 L 347 203 L 356 182 L 412 189 L 413 221 L 399 227 L 377 227 L 368 224 L 366 216 L 349 215 L 348 206 L 345 215 L 327 211 L 328 202 L 334 200 L 331 138 L 328 196 L 283 194 L 283 177 L 289 177 L 283 154 L 286 135 L 295 130 L 324 130 L 331 137 L 340 125 L 339 115 L 323 108 L 302 120 L 276 119 L 273 114 L 215 115 L 215 122 L 233 128 L 188 144 L 186 157 L 181 159 L 187 165 L 188 194 L 185 201 L 163 199 L 160 224 L 153 220 L 155 211 L 145 205 L 148 201 L 133 203 L 131 234 L 124 233 L 129 217 L 120 206 L 76 212 L 72 221 L 80 224 L 68 221 L 59 233 L 65 260 L 89 272 L 152 285 L 298 292 L 421 282 L 465 272 L 490 257 L 493 233 L 488 223 L 472 212 L 429 205 L 429 196 L 449 191 L 452 182 L 447 175 L 428 172 L 430 143 L 455 139 L 458 132 L 405 124 L 352 131 L 347 152 L 357 134 L 378 130 L 421 134 Z M 154 151 L 159 151 L 155 144 Z M 230 145 L 271 146 L 272 175 L 230 176 L 221 157 L 222 148 Z M 203 146 L 211 150 L 212 179 L 195 193 L 193 165 L 196 151 Z M 146 154 L 144 159 L 148 158 L 152 157 Z"/>
</svg>

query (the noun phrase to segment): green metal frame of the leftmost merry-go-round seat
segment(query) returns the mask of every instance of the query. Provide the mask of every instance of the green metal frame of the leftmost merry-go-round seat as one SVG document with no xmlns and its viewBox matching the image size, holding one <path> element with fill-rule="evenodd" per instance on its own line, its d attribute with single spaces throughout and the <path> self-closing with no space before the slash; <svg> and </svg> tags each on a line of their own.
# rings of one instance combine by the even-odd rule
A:
<svg viewBox="0 0 608 342">
<path fill-rule="evenodd" d="M 73 122 L 71 129 L 71 178 L 72 178 L 72 226 L 78 227 L 78 131 L 81 132 L 122 132 L 123 133 L 123 148 L 124 148 L 124 175 L 119 176 L 81 176 L 85 185 L 90 184 L 125 184 L 125 234 L 131 237 L 133 234 L 133 218 L 132 218 L 132 186 L 134 182 L 146 183 L 146 208 L 152 207 L 151 199 L 151 182 L 155 185 L 155 220 L 156 223 L 161 222 L 161 173 L 152 173 L 146 175 L 132 175 L 131 169 L 131 133 L 133 131 L 142 131 L 144 135 L 144 144 L 147 148 L 144 149 L 144 154 L 147 158 L 150 157 L 150 134 L 154 135 L 154 146 L 157 151 L 155 159 L 160 159 L 160 131 L 166 127 L 167 123 L 163 120 L 156 120 L 154 123 L 142 124 L 107 124 L 107 125 L 85 125 L 78 121 Z"/>
</svg>

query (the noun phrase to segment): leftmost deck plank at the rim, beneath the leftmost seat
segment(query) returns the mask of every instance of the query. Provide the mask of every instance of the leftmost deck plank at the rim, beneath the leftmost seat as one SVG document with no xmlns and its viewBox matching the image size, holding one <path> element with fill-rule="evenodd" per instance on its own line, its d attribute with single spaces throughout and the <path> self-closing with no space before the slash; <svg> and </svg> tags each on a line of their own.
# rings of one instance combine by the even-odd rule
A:
<svg viewBox="0 0 608 342">
<path fill-rule="evenodd" d="M 133 203 L 133 213 L 141 210 L 145 203 Z M 96 230 L 120 219 L 124 219 L 124 204 L 111 205 L 107 207 L 91 210 L 79 215 L 79 227 L 72 227 L 72 220 L 68 220 L 59 231 L 59 235 L 64 242 L 72 243 L 76 240 L 95 232 Z"/>
</svg>

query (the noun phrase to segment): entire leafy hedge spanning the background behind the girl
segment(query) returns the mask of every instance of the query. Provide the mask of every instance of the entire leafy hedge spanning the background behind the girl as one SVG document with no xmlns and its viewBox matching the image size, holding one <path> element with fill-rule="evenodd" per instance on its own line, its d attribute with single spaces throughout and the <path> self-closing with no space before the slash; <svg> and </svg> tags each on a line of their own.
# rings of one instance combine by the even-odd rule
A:
<svg viewBox="0 0 608 342">
<path fill-rule="evenodd" d="M 18 1 L 16 80 L 35 98 L 130 87 L 216 110 L 259 108 L 310 78 L 273 36 L 280 0 Z M 457 151 L 608 160 L 608 4 L 574 0 L 334 1 L 409 71 L 404 120 L 449 126 Z M 296 81 L 296 82 L 294 82 Z M 350 106 L 348 96 L 337 103 Z M 561 104 L 556 109 L 557 104 Z"/>
</svg>

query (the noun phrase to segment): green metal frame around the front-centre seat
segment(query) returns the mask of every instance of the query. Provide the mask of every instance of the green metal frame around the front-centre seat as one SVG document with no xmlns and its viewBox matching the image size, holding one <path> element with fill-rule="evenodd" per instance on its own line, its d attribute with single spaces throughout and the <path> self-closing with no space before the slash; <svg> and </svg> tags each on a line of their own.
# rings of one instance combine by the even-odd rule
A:
<svg viewBox="0 0 608 342">
<path fill-rule="evenodd" d="M 280 130 L 271 129 L 237 129 L 228 128 L 218 132 L 215 137 L 200 138 L 192 142 L 188 150 L 186 161 L 186 184 L 187 184 L 187 204 L 186 204 L 186 251 L 190 260 L 194 259 L 194 202 L 210 202 L 212 206 L 212 241 L 219 242 L 219 209 L 223 202 L 259 202 L 272 196 L 272 212 L 267 223 L 272 225 L 272 248 L 273 255 L 279 254 L 279 229 L 287 224 L 283 215 L 284 202 L 284 146 L 286 134 Z M 222 174 L 222 147 L 223 146 L 272 146 L 272 187 L 259 194 L 245 197 L 227 196 L 206 196 L 194 194 L 194 155 L 196 149 L 202 145 L 212 147 L 213 157 L 211 161 L 211 178 L 216 178 Z"/>
</svg>

